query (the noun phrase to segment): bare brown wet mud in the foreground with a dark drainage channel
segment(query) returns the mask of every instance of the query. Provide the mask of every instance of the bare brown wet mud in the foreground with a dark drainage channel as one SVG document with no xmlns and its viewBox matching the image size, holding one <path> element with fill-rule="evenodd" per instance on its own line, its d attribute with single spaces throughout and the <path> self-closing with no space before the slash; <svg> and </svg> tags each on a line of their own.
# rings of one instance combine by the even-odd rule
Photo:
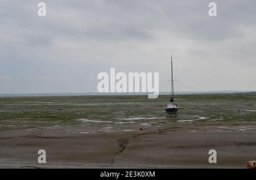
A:
<svg viewBox="0 0 256 180">
<path fill-rule="evenodd" d="M 255 130 L 254 122 L 97 133 L 76 126 L 7 130 L 0 132 L 0 168 L 246 168 L 256 158 Z M 38 164 L 39 149 L 46 150 L 46 164 Z M 210 149 L 217 164 L 208 162 Z"/>
</svg>

